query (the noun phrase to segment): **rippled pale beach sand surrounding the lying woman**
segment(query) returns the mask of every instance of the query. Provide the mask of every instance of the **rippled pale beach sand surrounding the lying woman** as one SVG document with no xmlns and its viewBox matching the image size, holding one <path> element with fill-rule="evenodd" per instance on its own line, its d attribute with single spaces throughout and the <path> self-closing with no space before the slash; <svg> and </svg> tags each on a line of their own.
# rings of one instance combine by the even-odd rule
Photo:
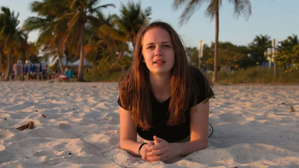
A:
<svg viewBox="0 0 299 168">
<path fill-rule="evenodd" d="M 208 148 L 148 163 L 119 149 L 117 83 L 0 82 L 0 168 L 299 168 L 299 86 L 214 91 Z"/>
</svg>

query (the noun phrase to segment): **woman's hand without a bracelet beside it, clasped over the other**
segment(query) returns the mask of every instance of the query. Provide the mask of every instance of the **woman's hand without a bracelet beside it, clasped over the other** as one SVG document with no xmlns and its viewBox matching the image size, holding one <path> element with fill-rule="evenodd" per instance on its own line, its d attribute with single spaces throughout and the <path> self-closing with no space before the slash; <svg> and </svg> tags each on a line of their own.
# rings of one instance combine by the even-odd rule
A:
<svg viewBox="0 0 299 168">
<path fill-rule="evenodd" d="M 177 145 L 166 142 L 156 136 L 153 136 L 154 145 L 149 147 L 147 153 L 147 160 L 153 161 L 167 161 L 180 154 L 180 149 Z"/>
</svg>

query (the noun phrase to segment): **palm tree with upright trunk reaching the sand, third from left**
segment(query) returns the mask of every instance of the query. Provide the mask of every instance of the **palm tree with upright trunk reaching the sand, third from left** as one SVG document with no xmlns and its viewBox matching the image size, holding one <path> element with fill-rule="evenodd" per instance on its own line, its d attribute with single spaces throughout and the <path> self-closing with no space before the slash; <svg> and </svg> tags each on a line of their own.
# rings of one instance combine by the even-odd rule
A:
<svg viewBox="0 0 299 168">
<path fill-rule="evenodd" d="M 71 34 L 74 27 L 78 26 L 78 32 L 80 33 L 80 64 L 78 70 L 78 81 L 83 80 L 83 70 L 84 70 L 84 27 L 85 24 L 95 19 L 94 13 L 98 11 L 100 8 L 114 6 L 114 4 L 104 4 L 97 6 L 98 0 L 65 0 L 65 3 L 69 6 L 71 12 L 63 14 L 57 20 L 68 20 L 68 30 L 66 31 L 66 38 L 64 42 L 66 42 L 67 38 Z M 59 7 L 59 6 L 56 6 Z"/>
</svg>

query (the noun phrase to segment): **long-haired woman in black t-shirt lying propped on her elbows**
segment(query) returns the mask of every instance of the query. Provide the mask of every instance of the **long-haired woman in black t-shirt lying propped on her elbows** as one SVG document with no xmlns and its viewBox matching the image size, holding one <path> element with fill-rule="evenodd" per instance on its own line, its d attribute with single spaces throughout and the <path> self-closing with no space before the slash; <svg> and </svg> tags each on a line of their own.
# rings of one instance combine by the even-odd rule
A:
<svg viewBox="0 0 299 168">
<path fill-rule="evenodd" d="M 121 149 L 145 161 L 166 161 L 207 147 L 211 83 L 188 64 L 169 24 L 139 30 L 119 91 Z M 149 143 L 137 143 L 137 133 Z M 189 142 L 177 143 L 189 136 Z"/>
</svg>

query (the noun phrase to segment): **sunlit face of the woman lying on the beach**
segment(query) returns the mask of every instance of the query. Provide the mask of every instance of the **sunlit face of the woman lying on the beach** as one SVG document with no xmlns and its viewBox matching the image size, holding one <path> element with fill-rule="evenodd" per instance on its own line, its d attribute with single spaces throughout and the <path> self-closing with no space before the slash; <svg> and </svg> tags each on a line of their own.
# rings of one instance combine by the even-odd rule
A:
<svg viewBox="0 0 299 168">
<path fill-rule="evenodd" d="M 174 51 L 169 33 L 162 28 L 148 30 L 143 38 L 144 62 L 152 74 L 169 73 L 174 65 Z"/>
</svg>

